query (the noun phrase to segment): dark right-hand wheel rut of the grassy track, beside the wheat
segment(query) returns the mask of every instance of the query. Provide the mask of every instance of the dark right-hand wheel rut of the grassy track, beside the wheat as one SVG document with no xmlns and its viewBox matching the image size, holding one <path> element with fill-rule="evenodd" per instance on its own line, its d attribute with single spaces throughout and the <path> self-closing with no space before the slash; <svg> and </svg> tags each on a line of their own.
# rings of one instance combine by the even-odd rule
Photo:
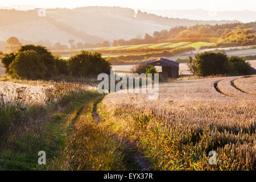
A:
<svg viewBox="0 0 256 182">
<path fill-rule="evenodd" d="M 100 114 L 98 114 L 98 111 L 97 111 L 97 104 L 100 103 L 102 100 L 102 98 L 100 100 L 96 100 L 96 102 L 94 102 L 94 107 L 93 107 L 93 117 L 94 119 L 96 119 L 97 121 L 97 124 L 100 123 L 100 122 L 104 122 L 104 119 L 102 119 L 100 117 Z M 135 162 L 137 162 L 139 164 L 139 166 L 141 166 L 141 170 L 142 171 L 149 171 L 150 170 L 150 163 L 148 162 L 148 160 L 143 156 L 143 152 L 140 151 L 137 147 L 137 144 L 130 140 L 130 139 L 127 139 L 127 138 L 118 138 L 118 136 L 116 135 L 113 135 L 113 138 L 115 140 L 121 140 L 121 142 L 129 149 L 131 149 L 133 152 L 133 156 L 134 156 L 134 159 L 135 159 Z"/>
</svg>

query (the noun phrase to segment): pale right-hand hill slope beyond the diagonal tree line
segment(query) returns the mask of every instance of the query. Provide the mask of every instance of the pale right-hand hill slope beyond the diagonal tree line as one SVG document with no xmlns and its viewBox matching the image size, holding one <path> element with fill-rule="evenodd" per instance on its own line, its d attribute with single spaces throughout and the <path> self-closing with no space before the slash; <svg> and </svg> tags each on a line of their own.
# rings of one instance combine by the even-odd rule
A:
<svg viewBox="0 0 256 182">
<path fill-rule="evenodd" d="M 73 10 L 48 10 L 49 16 L 65 22 L 91 35 L 98 35 L 106 40 L 131 39 L 137 35 L 153 34 L 154 31 L 168 30 L 175 26 L 192 26 L 195 24 L 225 24 L 238 21 L 200 21 L 175 19 L 153 14 L 136 14 L 133 9 L 122 7 L 79 7 Z"/>
</svg>

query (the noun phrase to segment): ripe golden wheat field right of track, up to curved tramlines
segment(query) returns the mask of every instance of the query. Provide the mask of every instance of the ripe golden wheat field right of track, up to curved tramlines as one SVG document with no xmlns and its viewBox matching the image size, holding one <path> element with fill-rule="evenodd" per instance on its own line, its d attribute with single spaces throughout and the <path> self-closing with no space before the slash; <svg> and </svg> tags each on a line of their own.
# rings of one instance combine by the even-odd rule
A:
<svg viewBox="0 0 256 182">
<path fill-rule="evenodd" d="M 115 132 L 138 142 L 154 169 L 255 170 L 254 101 L 228 97 L 205 78 L 159 86 L 159 99 L 108 94 L 103 116 Z M 208 163 L 216 151 L 217 164 Z"/>
</svg>

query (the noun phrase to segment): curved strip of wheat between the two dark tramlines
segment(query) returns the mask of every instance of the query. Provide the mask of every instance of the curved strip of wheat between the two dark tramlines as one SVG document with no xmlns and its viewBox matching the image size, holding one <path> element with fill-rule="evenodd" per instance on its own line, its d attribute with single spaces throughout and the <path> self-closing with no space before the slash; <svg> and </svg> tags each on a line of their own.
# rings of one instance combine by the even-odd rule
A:
<svg viewBox="0 0 256 182">
<path fill-rule="evenodd" d="M 225 80 L 218 81 L 216 83 L 216 90 L 226 96 L 242 98 L 245 100 L 256 100 L 256 97 L 244 92 L 243 90 L 235 86 L 234 80 L 237 80 L 240 77 L 228 77 Z"/>
</svg>

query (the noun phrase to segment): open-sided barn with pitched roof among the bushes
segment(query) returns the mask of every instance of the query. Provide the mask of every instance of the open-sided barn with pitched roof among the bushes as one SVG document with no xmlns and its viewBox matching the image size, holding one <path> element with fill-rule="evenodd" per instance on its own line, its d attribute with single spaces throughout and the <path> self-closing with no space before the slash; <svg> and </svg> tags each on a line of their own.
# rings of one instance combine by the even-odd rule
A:
<svg viewBox="0 0 256 182">
<path fill-rule="evenodd" d="M 162 76 L 176 78 L 179 76 L 179 63 L 168 60 L 163 57 L 156 58 L 149 61 L 144 61 L 141 64 L 148 64 L 162 67 Z"/>
</svg>

